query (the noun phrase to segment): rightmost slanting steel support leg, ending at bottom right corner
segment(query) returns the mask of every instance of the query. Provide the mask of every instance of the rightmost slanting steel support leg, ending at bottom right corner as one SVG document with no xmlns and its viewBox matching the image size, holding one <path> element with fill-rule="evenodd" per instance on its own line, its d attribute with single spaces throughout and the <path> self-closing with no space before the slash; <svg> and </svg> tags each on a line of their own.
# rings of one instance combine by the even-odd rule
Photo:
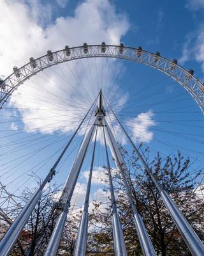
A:
<svg viewBox="0 0 204 256">
<path fill-rule="evenodd" d="M 204 244 L 201 242 L 201 240 L 198 237 L 198 235 L 196 234 L 196 232 L 194 232 L 191 225 L 189 225 L 189 223 L 187 222 L 187 220 L 183 216 L 183 214 L 179 211 L 177 205 L 175 205 L 175 203 L 170 198 L 170 196 L 166 193 L 166 191 L 161 189 L 159 183 L 157 182 L 153 173 L 149 169 L 148 164 L 145 162 L 142 155 L 140 154 L 138 149 L 135 147 L 135 144 L 133 143 L 133 141 L 129 137 L 128 133 L 126 132 L 126 130 L 124 129 L 122 124 L 120 123 L 119 119 L 117 118 L 115 113 L 113 113 L 113 115 L 115 116 L 115 118 L 119 122 L 120 127 L 122 128 L 122 130 L 126 134 L 129 142 L 131 143 L 131 145 L 132 145 L 133 149 L 135 150 L 136 154 L 138 155 L 140 161 L 142 161 L 143 166 L 145 166 L 145 170 L 148 173 L 148 175 L 150 176 L 150 179 L 152 179 L 152 182 L 155 184 L 156 188 L 158 189 L 159 193 L 161 194 L 161 198 L 163 199 L 163 202 L 166 205 L 166 208 L 170 212 L 171 218 L 173 219 L 173 221 L 177 225 L 177 228 L 179 229 L 180 234 L 184 238 L 184 241 L 186 242 L 189 250 L 191 251 L 191 253 L 194 256 L 203 256 L 204 255 Z"/>
</svg>

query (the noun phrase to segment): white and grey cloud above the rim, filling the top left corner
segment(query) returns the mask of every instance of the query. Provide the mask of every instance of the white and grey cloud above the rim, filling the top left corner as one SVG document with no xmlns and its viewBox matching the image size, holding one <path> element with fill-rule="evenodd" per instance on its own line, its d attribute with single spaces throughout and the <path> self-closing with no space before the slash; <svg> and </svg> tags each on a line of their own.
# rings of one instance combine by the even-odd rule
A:
<svg viewBox="0 0 204 256">
<path fill-rule="evenodd" d="M 13 65 L 24 65 L 30 56 L 38 57 L 48 49 L 56 51 L 66 44 L 77 46 L 83 42 L 98 44 L 102 41 L 119 44 L 129 28 L 126 17 L 115 13 L 108 0 L 88 0 L 78 5 L 73 17 L 59 17 L 44 29 L 38 24 L 42 4 L 39 1 L 31 3 L 29 6 L 24 1 L 0 2 L 4 10 L 0 17 L 1 76 L 9 75 Z M 43 15 L 49 12 L 43 9 Z"/>
</svg>

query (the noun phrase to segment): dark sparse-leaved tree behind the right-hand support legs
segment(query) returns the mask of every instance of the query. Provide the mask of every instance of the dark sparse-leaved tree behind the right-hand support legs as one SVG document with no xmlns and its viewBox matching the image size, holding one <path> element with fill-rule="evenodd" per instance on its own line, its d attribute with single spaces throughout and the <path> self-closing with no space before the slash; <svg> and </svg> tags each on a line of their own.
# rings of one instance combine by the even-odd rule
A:
<svg viewBox="0 0 204 256">
<path fill-rule="evenodd" d="M 144 171 L 141 170 L 135 154 L 133 154 L 131 165 L 134 167 L 135 193 L 133 196 L 157 253 L 161 253 L 162 256 L 191 255 L 171 220 L 156 187 L 147 175 L 143 175 Z M 161 187 L 173 198 L 198 236 L 204 239 L 201 228 L 204 202 L 194 194 L 195 180 L 192 180 L 189 172 L 189 157 L 184 159 L 178 152 L 177 156 L 168 156 L 162 159 L 161 155 L 157 153 L 149 165 Z M 197 173 L 197 175 L 199 174 L 200 172 Z"/>
</svg>

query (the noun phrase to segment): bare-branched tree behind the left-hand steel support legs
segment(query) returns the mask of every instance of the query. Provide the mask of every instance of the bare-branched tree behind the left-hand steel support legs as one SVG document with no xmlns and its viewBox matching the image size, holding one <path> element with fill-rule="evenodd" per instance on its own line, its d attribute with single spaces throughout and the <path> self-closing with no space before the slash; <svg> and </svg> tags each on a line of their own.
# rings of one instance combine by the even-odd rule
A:
<svg viewBox="0 0 204 256">
<path fill-rule="evenodd" d="M 34 189 L 32 189 L 32 191 L 33 190 Z M 40 200 L 38 200 L 36 207 L 34 208 L 24 230 L 22 230 L 22 233 L 18 239 L 22 246 L 23 252 L 19 248 L 19 244 L 16 243 L 10 255 L 41 256 L 44 254 L 57 219 L 55 195 L 58 193 L 59 189 L 57 189 L 55 186 L 48 186 L 47 189 L 43 191 Z M 32 193 L 29 189 L 26 189 L 22 193 L 22 205 L 24 205 L 29 198 L 31 198 L 31 195 Z M 71 216 L 68 218 L 57 255 L 73 255 L 78 222 L 79 218 L 76 216 Z"/>
</svg>

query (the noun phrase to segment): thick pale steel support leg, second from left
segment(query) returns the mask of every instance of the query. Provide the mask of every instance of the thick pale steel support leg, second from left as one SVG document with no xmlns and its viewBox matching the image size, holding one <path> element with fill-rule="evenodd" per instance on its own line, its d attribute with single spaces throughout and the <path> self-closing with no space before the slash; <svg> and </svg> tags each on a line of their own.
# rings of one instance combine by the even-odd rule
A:
<svg viewBox="0 0 204 256">
<path fill-rule="evenodd" d="M 96 124 L 94 122 L 94 124 L 92 124 L 91 129 L 89 129 L 89 132 L 87 133 L 87 136 L 85 137 L 80 147 L 80 150 L 77 154 L 75 162 L 71 167 L 71 171 L 69 173 L 68 179 L 66 180 L 66 184 L 64 186 L 64 189 L 62 191 L 62 196 L 60 198 L 60 204 L 64 204 L 64 209 L 57 220 L 57 223 L 52 232 L 52 236 L 50 237 L 50 241 L 48 243 L 47 250 L 44 256 L 55 256 L 57 254 L 57 250 L 59 247 L 59 243 L 61 241 L 64 225 L 66 223 L 67 214 L 69 211 L 71 196 L 73 195 L 73 191 L 77 183 L 78 175 L 80 173 L 82 164 L 84 162 L 85 154 L 89 148 L 89 145 L 92 141 L 92 136 L 94 135 L 95 131 L 96 131 Z"/>
</svg>

